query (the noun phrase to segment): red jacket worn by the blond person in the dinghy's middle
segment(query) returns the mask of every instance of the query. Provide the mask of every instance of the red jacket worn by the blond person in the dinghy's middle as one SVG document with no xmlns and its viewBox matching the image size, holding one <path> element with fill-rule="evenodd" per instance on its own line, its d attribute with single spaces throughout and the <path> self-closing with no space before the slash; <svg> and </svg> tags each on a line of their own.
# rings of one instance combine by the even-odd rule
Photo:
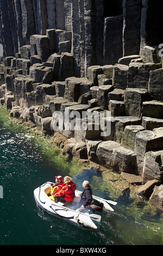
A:
<svg viewBox="0 0 163 256">
<path fill-rule="evenodd" d="M 76 185 L 73 181 L 71 181 L 69 184 L 64 185 L 60 191 L 54 194 L 54 197 L 61 197 L 64 196 L 64 199 L 67 202 L 70 202 L 74 198 L 74 192 L 76 190 Z"/>
</svg>

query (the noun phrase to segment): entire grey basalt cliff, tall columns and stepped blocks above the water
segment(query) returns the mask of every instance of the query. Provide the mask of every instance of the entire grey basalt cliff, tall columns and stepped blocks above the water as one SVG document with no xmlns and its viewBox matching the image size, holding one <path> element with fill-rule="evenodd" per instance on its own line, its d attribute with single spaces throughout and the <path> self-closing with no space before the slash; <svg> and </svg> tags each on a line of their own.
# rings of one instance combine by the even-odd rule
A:
<svg viewBox="0 0 163 256">
<path fill-rule="evenodd" d="M 63 153 L 121 172 L 162 209 L 162 0 L 0 0 L 0 101 Z M 69 112 L 111 112 L 111 133 L 55 130 Z M 103 132 L 103 133 L 102 133 Z"/>
</svg>

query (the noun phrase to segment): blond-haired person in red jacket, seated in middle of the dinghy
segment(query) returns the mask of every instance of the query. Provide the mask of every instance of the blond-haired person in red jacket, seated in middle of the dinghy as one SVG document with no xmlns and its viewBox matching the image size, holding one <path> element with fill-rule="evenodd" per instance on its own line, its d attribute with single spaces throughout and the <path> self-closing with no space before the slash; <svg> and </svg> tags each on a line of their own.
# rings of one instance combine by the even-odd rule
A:
<svg viewBox="0 0 163 256">
<path fill-rule="evenodd" d="M 59 201 L 62 203 L 70 202 L 73 200 L 76 191 L 76 185 L 72 181 L 71 177 L 65 176 L 64 178 L 64 186 L 60 191 L 54 194 L 55 197 L 55 203 L 58 203 Z"/>
</svg>

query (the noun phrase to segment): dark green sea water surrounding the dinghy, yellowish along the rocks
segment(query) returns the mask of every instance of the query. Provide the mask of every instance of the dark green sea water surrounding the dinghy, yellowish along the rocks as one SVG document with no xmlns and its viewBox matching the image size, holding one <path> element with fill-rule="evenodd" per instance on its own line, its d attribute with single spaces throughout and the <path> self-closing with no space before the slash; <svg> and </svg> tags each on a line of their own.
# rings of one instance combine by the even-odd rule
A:
<svg viewBox="0 0 163 256">
<path fill-rule="evenodd" d="M 104 174 L 63 156 L 50 137 L 28 130 L 0 107 L 0 245 L 163 245 L 162 212 L 118 192 Z M 101 213 L 98 229 L 89 231 L 48 215 L 33 191 L 55 175 L 70 175 L 78 190 L 89 180 L 93 194 L 116 200 L 115 211 Z"/>
</svg>

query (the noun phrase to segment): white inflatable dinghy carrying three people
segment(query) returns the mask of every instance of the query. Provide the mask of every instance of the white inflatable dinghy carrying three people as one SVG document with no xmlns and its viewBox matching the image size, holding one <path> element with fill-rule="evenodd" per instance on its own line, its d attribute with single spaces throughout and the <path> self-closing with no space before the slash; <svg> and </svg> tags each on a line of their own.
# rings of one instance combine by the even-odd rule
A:
<svg viewBox="0 0 163 256">
<path fill-rule="evenodd" d="M 55 203 L 53 200 L 49 198 L 49 193 L 51 192 L 51 186 L 54 184 L 53 182 L 46 182 L 45 184 L 37 187 L 34 190 L 34 198 L 36 204 L 39 205 L 43 210 L 48 212 L 53 216 L 57 216 L 72 222 L 73 224 L 78 225 L 79 227 L 85 229 L 97 229 L 97 225 L 95 222 L 101 221 L 101 215 L 92 214 L 88 212 L 79 212 L 78 203 L 80 201 L 80 197 L 78 193 L 81 191 L 75 191 L 75 197 L 73 201 L 67 203 Z M 93 200 L 91 203 L 91 208 L 97 211 L 114 211 L 111 208 L 110 204 L 116 205 L 116 202 L 105 200 L 99 197 L 92 196 Z M 110 204 L 109 204 L 110 203 Z"/>
</svg>

